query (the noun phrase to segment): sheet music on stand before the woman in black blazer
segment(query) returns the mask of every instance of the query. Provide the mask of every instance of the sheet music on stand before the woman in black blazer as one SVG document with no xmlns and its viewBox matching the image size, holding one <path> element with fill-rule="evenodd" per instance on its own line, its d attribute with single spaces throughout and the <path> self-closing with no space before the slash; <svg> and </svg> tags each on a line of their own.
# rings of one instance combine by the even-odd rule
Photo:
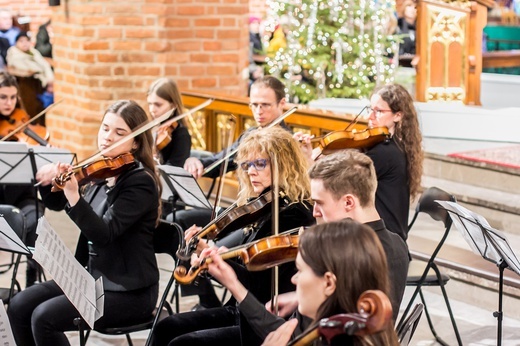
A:
<svg viewBox="0 0 520 346">
<path fill-rule="evenodd" d="M 76 260 L 44 216 L 38 220 L 38 238 L 33 258 L 53 277 L 87 324 L 103 316 L 104 291 L 101 278 L 94 281 Z"/>
</svg>

